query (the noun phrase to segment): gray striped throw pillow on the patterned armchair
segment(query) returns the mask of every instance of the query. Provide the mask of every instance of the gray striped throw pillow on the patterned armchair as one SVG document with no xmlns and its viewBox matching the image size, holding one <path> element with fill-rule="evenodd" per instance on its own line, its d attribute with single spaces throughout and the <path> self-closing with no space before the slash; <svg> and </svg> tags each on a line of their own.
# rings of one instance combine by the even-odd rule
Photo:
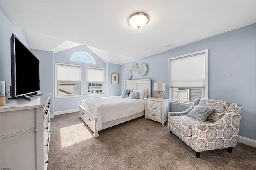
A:
<svg viewBox="0 0 256 170">
<path fill-rule="evenodd" d="M 188 114 L 187 116 L 193 117 L 200 121 L 206 121 L 207 117 L 214 111 L 214 109 L 210 107 L 204 107 L 196 105 Z"/>
</svg>

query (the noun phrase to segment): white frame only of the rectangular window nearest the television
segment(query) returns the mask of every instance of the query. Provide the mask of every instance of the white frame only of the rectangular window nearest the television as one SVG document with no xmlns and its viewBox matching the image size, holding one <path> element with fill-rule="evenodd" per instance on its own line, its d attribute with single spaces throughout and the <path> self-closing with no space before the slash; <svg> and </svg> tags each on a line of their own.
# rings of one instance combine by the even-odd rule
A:
<svg viewBox="0 0 256 170">
<path fill-rule="evenodd" d="M 64 82 L 64 81 L 61 81 L 61 82 L 59 82 L 59 81 L 57 81 L 57 75 L 58 75 L 58 72 L 57 72 L 57 66 L 58 65 L 64 65 L 64 66 L 72 66 L 72 67 L 79 67 L 80 68 L 80 70 L 81 70 L 81 75 L 80 75 L 80 80 L 81 81 L 69 81 L 69 82 Z M 82 76 L 83 76 L 83 67 L 81 66 L 81 65 L 75 65 L 75 64 L 66 64 L 66 63 L 55 63 L 55 88 L 54 88 L 54 90 L 55 90 L 55 96 L 54 96 L 54 98 L 70 98 L 70 97 L 81 97 L 81 96 L 83 96 L 82 95 L 82 93 L 83 93 L 83 90 L 82 90 L 82 84 L 83 84 L 83 82 L 82 82 Z M 61 96 L 58 96 L 58 84 L 59 83 L 78 83 L 79 84 L 79 90 L 80 90 L 80 94 L 72 94 L 72 95 L 61 95 Z"/>
</svg>

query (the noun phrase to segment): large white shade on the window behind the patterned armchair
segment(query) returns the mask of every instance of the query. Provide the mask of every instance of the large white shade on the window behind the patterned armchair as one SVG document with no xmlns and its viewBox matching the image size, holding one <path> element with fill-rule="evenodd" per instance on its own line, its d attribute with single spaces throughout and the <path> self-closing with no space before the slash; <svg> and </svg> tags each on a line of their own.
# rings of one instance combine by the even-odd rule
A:
<svg viewBox="0 0 256 170">
<path fill-rule="evenodd" d="M 171 88 L 205 87 L 204 53 L 170 60 Z"/>
</svg>

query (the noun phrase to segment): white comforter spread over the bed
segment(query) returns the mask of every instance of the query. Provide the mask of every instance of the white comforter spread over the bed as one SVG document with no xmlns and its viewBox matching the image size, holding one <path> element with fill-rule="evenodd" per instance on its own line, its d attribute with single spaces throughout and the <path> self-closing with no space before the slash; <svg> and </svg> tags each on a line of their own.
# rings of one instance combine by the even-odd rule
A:
<svg viewBox="0 0 256 170">
<path fill-rule="evenodd" d="M 135 115 L 145 110 L 144 99 L 136 100 L 121 96 L 84 99 L 82 106 L 97 115 L 97 131 L 102 128 L 102 123 Z"/>
</svg>

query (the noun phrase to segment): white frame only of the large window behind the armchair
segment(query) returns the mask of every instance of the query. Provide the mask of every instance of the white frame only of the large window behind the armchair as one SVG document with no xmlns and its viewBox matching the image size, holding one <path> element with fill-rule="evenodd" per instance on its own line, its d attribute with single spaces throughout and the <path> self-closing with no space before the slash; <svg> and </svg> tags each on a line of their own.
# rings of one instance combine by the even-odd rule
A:
<svg viewBox="0 0 256 170">
<path fill-rule="evenodd" d="M 184 55 L 178 55 L 176 57 L 171 57 L 169 58 L 169 72 L 168 72 L 168 76 L 169 76 L 169 99 L 170 99 L 170 104 L 180 104 L 180 105 L 184 105 L 184 106 L 191 106 L 191 102 L 182 102 L 182 101 L 177 101 L 177 100 L 173 100 L 173 92 L 172 92 L 172 88 L 171 88 L 171 77 L 170 77 L 170 67 L 171 67 L 171 60 L 173 59 L 178 59 L 178 58 L 184 58 L 184 57 L 189 57 L 189 56 L 193 56 L 193 55 L 197 55 L 199 53 L 204 53 L 204 73 L 205 73 L 205 87 L 203 88 L 203 95 L 202 98 L 208 98 L 208 94 L 209 94 L 209 88 L 208 88 L 208 49 L 204 49 L 201 51 L 196 51 L 193 53 L 187 53 Z M 182 87 L 182 88 L 188 88 L 188 87 Z"/>
</svg>

